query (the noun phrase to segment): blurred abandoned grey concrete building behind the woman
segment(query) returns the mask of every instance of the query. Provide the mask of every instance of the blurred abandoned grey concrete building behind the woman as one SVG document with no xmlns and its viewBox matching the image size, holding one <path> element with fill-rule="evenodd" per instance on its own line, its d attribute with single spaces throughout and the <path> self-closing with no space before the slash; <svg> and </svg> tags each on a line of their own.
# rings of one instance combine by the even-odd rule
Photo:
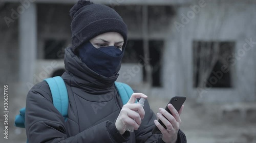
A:
<svg viewBox="0 0 256 143">
<path fill-rule="evenodd" d="M 13 84 L 13 94 L 22 95 L 10 99 L 24 101 L 18 106 L 25 105 L 34 84 L 65 71 L 69 10 L 75 2 L 0 2 L 1 83 Z M 186 96 L 196 103 L 255 104 L 254 1 L 93 2 L 113 7 L 129 29 L 118 81 L 154 99 Z M 222 107 L 223 112 L 233 109 Z"/>
</svg>

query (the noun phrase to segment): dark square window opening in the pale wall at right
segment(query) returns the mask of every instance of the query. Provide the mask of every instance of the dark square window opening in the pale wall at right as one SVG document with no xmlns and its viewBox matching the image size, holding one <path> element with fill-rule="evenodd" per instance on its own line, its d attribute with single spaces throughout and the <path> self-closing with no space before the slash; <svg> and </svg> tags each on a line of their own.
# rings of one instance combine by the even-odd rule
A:
<svg viewBox="0 0 256 143">
<path fill-rule="evenodd" d="M 232 66 L 228 60 L 233 53 L 232 41 L 194 41 L 194 87 L 231 88 Z"/>
</svg>

